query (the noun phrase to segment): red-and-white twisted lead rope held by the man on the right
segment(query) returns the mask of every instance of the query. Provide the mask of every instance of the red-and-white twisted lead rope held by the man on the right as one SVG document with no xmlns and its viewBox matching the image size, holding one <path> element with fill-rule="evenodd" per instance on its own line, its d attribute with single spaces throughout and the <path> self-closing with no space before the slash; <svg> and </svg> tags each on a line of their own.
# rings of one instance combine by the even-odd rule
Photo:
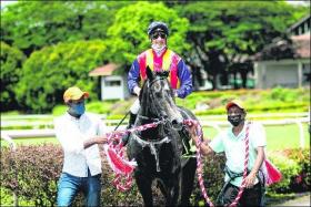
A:
<svg viewBox="0 0 311 207">
<path fill-rule="evenodd" d="M 209 198 L 208 194 L 207 194 L 207 189 L 204 187 L 204 183 L 203 183 L 203 165 L 202 165 L 202 153 L 201 153 L 201 143 L 202 143 L 202 127 L 200 125 L 200 123 L 198 121 L 193 121 L 193 120 L 185 120 L 184 124 L 191 126 L 194 125 L 197 126 L 197 135 L 198 135 L 198 141 L 195 143 L 195 146 L 198 148 L 197 151 L 197 173 L 198 173 L 198 180 L 199 180 L 199 185 L 202 192 L 202 195 L 205 199 L 205 201 L 209 204 L 209 206 L 213 207 L 213 203 L 211 201 L 211 199 Z M 248 175 L 248 163 L 249 163 L 249 127 L 250 126 L 250 122 L 247 125 L 247 130 L 245 130 L 245 159 L 244 159 L 244 172 L 243 172 L 243 179 L 242 179 L 242 185 L 239 189 L 238 196 L 235 197 L 235 199 L 233 200 L 233 203 L 230 205 L 230 207 L 234 207 L 238 205 L 243 190 L 245 188 L 245 178 Z"/>
</svg>

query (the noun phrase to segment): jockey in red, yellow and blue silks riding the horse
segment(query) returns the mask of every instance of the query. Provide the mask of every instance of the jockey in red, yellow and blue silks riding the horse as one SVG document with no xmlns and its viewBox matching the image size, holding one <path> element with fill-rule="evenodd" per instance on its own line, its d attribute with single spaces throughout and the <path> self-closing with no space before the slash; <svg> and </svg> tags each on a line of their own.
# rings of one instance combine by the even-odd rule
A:
<svg viewBox="0 0 311 207">
<path fill-rule="evenodd" d="M 148 27 L 148 35 L 151 42 L 151 49 L 142 52 L 133 61 L 128 76 L 128 86 L 130 93 L 139 96 L 142 82 L 147 79 L 146 69 L 149 66 L 156 72 L 169 71 L 169 81 L 174 95 L 184 99 L 192 92 L 192 75 L 184 61 L 167 46 L 169 28 L 163 22 L 152 22 Z M 139 100 L 130 108 L 130 121 L 128 128 L 134 124 L 138 111 L 140 108 Z M 123 137 L 124 145 L 129 135 Z"/>
</svg>

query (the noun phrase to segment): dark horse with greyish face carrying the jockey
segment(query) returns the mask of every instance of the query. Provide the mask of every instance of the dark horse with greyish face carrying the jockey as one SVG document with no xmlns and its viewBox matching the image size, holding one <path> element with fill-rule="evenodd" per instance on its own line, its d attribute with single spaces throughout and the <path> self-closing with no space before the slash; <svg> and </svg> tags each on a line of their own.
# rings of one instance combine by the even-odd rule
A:
<svg viewBox="0 0 311 207">
<path fill-rule="evenodd" d="M 175 105 L 168 72 L 154 73 L 147 68 L 147 77 L 139 95 L 141 107 L 134 126 L 159 124 L 130 135 L 127 153 L 138 164 L 136 183 L 146 206 L 153 206 L 153 180 L 158 180 L 167 206 L 189 206 L 197 159 L 182 156 L 183 144 L 189 144 L 183 138 L 190 138 L 183 120 L 197 118 L 189 110 Z"/>
</svg>

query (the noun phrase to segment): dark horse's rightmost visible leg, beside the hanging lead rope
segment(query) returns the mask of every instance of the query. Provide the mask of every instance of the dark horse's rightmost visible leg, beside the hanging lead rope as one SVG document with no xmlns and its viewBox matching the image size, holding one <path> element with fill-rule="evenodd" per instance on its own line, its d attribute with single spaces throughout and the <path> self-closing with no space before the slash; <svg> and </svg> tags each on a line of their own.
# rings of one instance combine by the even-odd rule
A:
<svg viewBox="0 0 311 207">
<path fill-rule="evenodd" d="M 182 168 L 180 206 L 190 206 L 189 199 L 193 189 L 195 169 L 195 158 L 190 158 L 190 161 Z"/>
</svg>

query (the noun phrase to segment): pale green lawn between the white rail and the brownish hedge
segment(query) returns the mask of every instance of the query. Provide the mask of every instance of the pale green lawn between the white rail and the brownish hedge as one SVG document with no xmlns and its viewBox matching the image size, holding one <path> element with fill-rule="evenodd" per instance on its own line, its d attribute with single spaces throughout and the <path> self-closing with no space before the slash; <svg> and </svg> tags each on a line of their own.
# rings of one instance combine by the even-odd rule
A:
<svg viewBox="0 0 311 207">
<path fill-rule="evenodd" d="M 299 143 L 299 128 L 295 124 L 290 125 L 274 125 L 265 126 L 267 133 L 267 148 L 268 151 L 277 151 L 283 148 L 297 148 Z M 308 132 L 308 124 L 303 124 L 304 130 L 304 146 L 310 147 L 310 134 Z M 204 137 L 213 138 L 217 135 L 217 131 L 212 127 L 204 127 Z M 59 142 L 54 137 L 44 138 L 19 138 L 14 139 L 16 144 L 29 145 L 29 144 L 42 144 L 44 142 L 58 144 Z M 7 146 L 8 143 L 1 139 L 1 146 Z"/>
</svg>

